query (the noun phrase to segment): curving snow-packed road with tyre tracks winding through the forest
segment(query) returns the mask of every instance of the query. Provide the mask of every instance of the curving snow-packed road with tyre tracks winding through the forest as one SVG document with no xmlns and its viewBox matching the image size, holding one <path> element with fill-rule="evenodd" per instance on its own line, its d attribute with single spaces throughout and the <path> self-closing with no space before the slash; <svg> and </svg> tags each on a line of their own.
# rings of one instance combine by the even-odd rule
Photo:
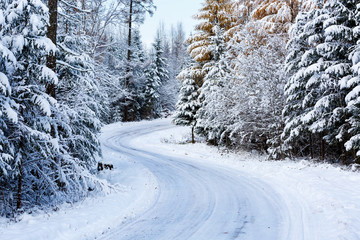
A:
<svg viewBox="0 0 360 240">
<path fill-rule="evenodd" d="M 158 189 L 150 208 L 99 239 L 307 239 L 301 224 L 290 225 L 291 209 L 261 180 L 131 144 L 171 127 L 164 121 L 140 123 L 113 131 L 103 139 L 107 152 L 121 153 L 146 167 L 155 176 Z"/>
</svg>

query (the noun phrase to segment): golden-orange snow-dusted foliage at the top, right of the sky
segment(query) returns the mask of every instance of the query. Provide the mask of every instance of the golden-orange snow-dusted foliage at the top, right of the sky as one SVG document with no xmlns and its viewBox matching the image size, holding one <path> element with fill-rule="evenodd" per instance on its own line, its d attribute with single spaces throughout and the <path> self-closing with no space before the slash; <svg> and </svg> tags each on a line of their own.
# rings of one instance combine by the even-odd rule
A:
<svg viewBox="0 0 360 240">
<path fill-rule="evenodd" d="M 326 0 L 204 0 L 203 7 L 194 16 L 201 22 L 195 27 L 195 34 L 187 40 L 188 52 L 199 65 L 197 82 L 201 85 L 201 68 L 212 60 L 211 38 L 214 27 L 224 32 L 228 57 L 236 58 L 238 43 L 245 43 L 243 53 L 266 44 L 271 35 L 287 38 L 287 32 L 299 11 L 321 7 Z M 251 35 L 251 37 L 248 37 Z"/>
</svg>

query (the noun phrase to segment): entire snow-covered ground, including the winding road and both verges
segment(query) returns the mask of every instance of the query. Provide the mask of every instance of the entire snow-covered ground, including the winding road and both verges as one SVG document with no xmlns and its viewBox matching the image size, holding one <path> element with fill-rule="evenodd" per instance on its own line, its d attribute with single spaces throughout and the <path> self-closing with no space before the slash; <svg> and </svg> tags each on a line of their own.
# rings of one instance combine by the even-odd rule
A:
<svg viewBox="0 0 360 240">
<path fill-rule="evenodd" d="M 169 120 L 103 130 L 101 177 L 120 191 L 0 219 L 0 239 L 357 240 L 360 174 L 183 144 Z"/>
</svg>

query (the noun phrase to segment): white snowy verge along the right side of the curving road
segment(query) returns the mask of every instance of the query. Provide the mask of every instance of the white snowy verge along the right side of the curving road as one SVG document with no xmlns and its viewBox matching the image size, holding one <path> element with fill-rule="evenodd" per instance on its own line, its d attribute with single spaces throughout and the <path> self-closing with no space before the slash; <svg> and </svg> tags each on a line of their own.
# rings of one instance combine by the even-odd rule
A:
<svg viewBox="0 0 360 240">
<path fill-rule="evenodd" d="M 304 225 L 298 238 L 284 239 L 360 239 L 359 172 L 305 160 L 266 161 L 256 153 L 225 154 L 206 144 L 182 144 L 190 134 L 189 128 L 177 127 L 138 138 L 132 144 L 142 144 L 148 150 L 160 147 L 163 154 L 185 155 L 191 161 L 217 164 L 266 182 L 292 210 L 290 224 L 302 221 Z"/>
</svg>

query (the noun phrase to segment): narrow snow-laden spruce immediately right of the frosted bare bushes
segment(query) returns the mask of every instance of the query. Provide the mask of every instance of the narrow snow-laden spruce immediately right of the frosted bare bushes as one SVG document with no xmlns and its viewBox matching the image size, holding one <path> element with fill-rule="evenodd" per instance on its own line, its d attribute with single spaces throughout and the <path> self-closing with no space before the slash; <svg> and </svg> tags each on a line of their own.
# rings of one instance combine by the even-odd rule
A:
<svg viewBox="0 0 360 240">
<path fill-rule="evenodd" d="M 314 135 L 311 131 L 308 113 L 313 110 L 316 99 L 321 95 L 320 77 L 325 68 L 321 65 L 322 56 L 318 54 L 316 46 L 324 42 L 323 21 L 326 15 L 323 14 L 323 10 L 314 9 L 300 17 L 304 20 L 300 19 L 296 24 L 299 25 L 299 33 L 302 34 L 292 35 L 294 40 L 291 39 L 288 45 L 286 70 L 289 74 L 289 82 L 285 87 L 287 100 L 283 114 L 286 125 L 282 137 L 285 151 L 291 150 L 296 155 L 314 157 L 315 147 L 319 146 L 314 143 L 317 141 L 321 143 L 322 140 L 319 139 L 318 134 Z M 303 27 L 301 21 L 306 21 Z M 299 47 L 297 44 L 301 42 L 303 49 L 298 52 L 299 62 L 296 62 L 296 58 L 291 59 L 291 55 L 296 54 L 296 48 Z"/>
</svg>

